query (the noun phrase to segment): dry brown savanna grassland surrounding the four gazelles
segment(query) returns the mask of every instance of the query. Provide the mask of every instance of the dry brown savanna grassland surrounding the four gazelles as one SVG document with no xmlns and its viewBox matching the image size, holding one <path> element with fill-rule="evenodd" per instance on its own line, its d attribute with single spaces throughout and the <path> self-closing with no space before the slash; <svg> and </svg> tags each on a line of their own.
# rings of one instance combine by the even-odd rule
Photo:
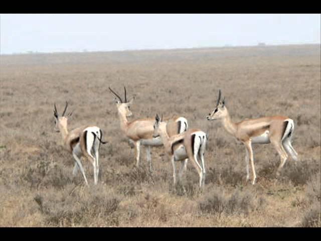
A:
<svg viewBox="0 0 321 241">
<path fill-rule="evenodd" d="M 0 226 L 320 226 L 320 45 L 1 56 Z M 128 98 L 134 118 L 179 114 L 209 136 L 205 189 L 189 162 L 172 187 L 163 148 L 142 147 L 120 132 L 114 96 Z M 254 145 L 257 183 L 245 180 L 245 149 L 206 115 L 222 89 L 232 120 L 287 115 L 294 120 L 295 164 L 271 145 Z M 97 125 L 98 185 L 90 188 L 54 131 L 53 104 L 74 110 L 69 130 Z"/>
</svg>

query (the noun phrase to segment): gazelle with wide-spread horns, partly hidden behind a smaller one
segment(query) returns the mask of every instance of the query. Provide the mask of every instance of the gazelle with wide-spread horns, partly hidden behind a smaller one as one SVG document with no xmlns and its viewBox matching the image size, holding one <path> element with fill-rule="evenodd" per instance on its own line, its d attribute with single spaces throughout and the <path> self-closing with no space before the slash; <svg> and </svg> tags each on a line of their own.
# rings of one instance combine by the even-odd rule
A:
<svg viewBox="0 0 321 241">
<path fill-rule="evenodd" d="M 127 101 L 126 96 L 126 87 L 124 86 L 124 101 L 122 98 L 113 91 L 110 87 L 109 90 L 115 95 L 116 106 L 118 110 L 118 116 L 120 121 L 120 128 L 125 134 L 129 141 L 134 143 L 135 146 L 135 160 L 136 167 L 139 166 L 140 159 L 140 146 L 146 147 L 146 159 L 149 163 L 149 171 L 152 172 L 152 164 L 151 164 L 151 155 L 150 155 L 150 147 L 151 146 L 162 146 L 161 138 L 152 138 L 153 134 L 153 118 L 144 118 L 144 119 L 136 119 L 135 121 L 129 122 L 127 117 L 132 115 L 132 112 L 129 110 L 130 105 L 133 103 L 134 97 L 132 97 L 129 101 Z M 118 98 L 118 99 L 117 99 Z M 172 117 L 167 118 L 167 120 L 172 119 L 174 122 L 171 122 L 168 125 L 168 134 L 169 136 L 176 135 L 178 133 L 183 133 L 188 129 L 187 119 L 185 117 Z"/>
</svg>

